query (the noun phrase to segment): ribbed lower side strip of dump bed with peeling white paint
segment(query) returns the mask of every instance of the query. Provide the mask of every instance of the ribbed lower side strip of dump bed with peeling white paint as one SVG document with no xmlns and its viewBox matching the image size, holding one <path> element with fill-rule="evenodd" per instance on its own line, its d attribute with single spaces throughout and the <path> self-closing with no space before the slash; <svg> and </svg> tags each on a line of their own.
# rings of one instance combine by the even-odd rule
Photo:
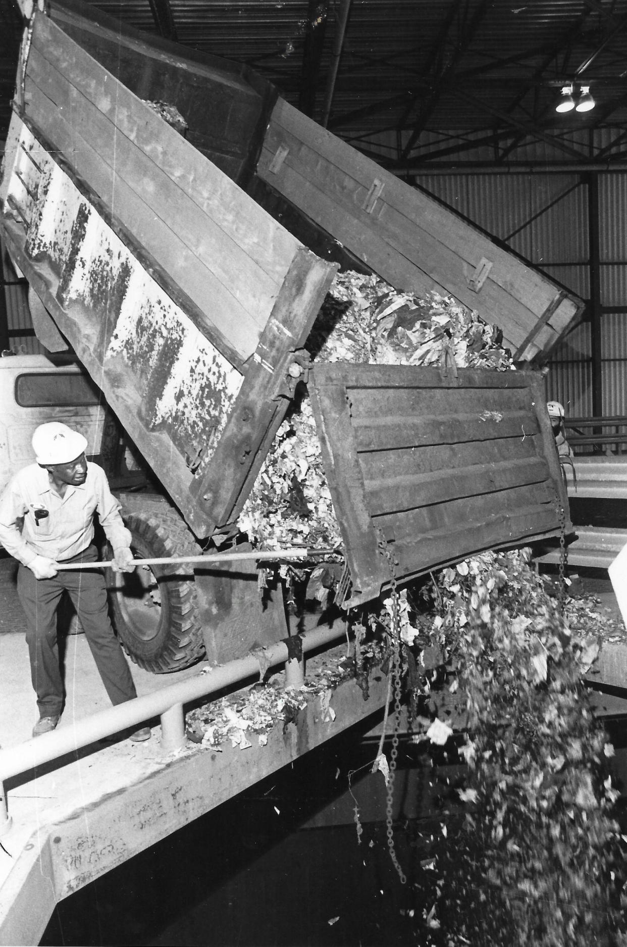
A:
<svg viewBox="0 0 627 947">
<path fill-rule="evenodd" d="M 4 226 L 11 254 L 184 515 L 242 372 L 144 269 L 14 116 Z"/>
</svg>

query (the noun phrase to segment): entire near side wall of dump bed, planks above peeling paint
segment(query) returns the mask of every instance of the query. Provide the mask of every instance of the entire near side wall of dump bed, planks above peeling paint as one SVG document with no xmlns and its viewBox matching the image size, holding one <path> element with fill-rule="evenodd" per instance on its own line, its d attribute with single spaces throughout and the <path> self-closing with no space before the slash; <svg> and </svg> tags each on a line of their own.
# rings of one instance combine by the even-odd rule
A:
<svg viewBox="0 0 627 947">
<path fill-rule="evenodd" d="M 335 267 L 39 12 L 22 98 L 11 256 L 206 536 L 245 499 Z"/>
</svg>

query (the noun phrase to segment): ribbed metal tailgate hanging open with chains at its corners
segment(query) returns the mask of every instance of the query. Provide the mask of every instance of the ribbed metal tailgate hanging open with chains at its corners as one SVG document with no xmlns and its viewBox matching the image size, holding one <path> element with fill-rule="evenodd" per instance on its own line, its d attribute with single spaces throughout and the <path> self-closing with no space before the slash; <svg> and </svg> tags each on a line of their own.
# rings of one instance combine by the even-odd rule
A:
<svg viewBox="0 0 627 947">
<path fill-rule="evenodd" d="M 535 372 L 315 366 L 310 380 L 352 579 L 349 604 L 483 549 L 560 533 L 568 500 Z"/>
</svg>

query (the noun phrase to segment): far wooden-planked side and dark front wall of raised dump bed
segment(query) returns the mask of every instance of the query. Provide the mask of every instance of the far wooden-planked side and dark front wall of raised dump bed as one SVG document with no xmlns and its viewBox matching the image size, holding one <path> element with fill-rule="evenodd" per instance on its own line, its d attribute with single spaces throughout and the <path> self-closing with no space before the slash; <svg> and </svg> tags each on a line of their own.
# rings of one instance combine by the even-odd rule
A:
<svg viewBox="0 0 627 947">
<path fill-rule="evenodd" d="M 498 325 L 522 361 L 544 358 L 582 313 L 581 299 L 321 128 L 247 67 L 183 56 L 77 0 L 52 2 L 50 15 L 125 89 L 175 106 L 188 141 L 320 255 L 352 260 L 399 290 L 456 296 Z"/>
</svg>

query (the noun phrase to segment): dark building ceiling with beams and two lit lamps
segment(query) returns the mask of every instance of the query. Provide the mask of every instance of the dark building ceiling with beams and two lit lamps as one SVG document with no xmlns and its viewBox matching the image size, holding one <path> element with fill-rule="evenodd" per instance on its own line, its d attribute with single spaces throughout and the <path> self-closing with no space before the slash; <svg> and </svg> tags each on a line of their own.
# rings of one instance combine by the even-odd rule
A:
<svg viewBox="0 0 627 947">
<path fill-rule="evenodd" d="M 389 170 L 481 155 L 627 164 L 627 0 L 91 0 L 109 16 L 245 63 Z M 22 34 L 0 0 L 0 134 Z M 555 111 L 564 85 L 591 111 Z M 527 151 L 525 151 L 527 150 Z"/>
</svg>

